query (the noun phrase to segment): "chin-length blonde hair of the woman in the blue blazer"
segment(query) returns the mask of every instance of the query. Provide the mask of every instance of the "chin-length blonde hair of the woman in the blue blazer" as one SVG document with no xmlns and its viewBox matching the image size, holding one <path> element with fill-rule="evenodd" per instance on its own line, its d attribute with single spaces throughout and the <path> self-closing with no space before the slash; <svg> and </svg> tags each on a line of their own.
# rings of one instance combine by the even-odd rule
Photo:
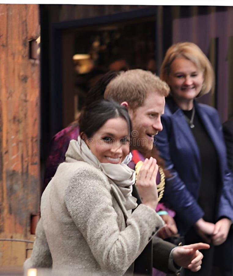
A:
<svg viewBox="0 0 233 276">
<path fill-rule="evenodd" d="M 171 64 L 174 59 L 178 57 L 190 60 L 198 69 L 203 71 L 204 82 L 197 97 L 208 93 L 211 88 L 212 90 L 214 89 L 214 72 L 212 65 L 202 50 L 192 42 L 179 42 L 168 48 L 160 68 L 160 78 L 162 80 L 169 82 Z"/>
</svg>

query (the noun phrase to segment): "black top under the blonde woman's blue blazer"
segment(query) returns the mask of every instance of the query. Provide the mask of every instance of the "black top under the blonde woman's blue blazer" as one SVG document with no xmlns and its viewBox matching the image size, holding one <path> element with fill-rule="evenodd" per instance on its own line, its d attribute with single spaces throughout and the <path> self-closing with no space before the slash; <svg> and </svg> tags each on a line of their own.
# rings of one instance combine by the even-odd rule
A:
<svg viewBox="0 0 233 276">
<path fill-rule="evenodd" d="M 192 110 L 183 110 L 183 113 L 190 119 Z M 198 204 L 205 213 L 203 219 L 215 222 L 214 214 L 216 213 L 216 202 L 218 202 L 220 187 L 218 157 L 213 142 L 196 111 L 193 124 L 194 128 L 191 128 L 191 131 L 199 148 L 201 158 L 201 185 Z"/>
</svg>

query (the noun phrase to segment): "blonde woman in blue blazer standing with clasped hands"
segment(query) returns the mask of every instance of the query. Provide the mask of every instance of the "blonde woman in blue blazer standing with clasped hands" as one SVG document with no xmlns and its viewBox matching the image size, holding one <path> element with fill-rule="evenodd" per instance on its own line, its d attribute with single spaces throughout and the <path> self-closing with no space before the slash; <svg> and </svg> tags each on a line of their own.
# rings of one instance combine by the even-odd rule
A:
<svg viewBox="0 0 233 276">
<path fill-rule="evenodd" d="M 164 201 L 176 212 L 186 244 L 211 244 L 202 252 L 202 268 L 195 275 L 212 276 L 214 252 L 227 239 L 233 219 L 232 176 L 220 119 L 214 108 L 195 100 L 213 89 L 213 69 L 196 44 L 177 43 L 166 52 L 161 79 L 171 89 L 161 118 L 163 130 L 155 141 L 171 173 Z M 232 251 L 221 254 L 229 258 Z M 221 267 L 222 275 L 232 275 L 229 266 Z M 185 270 L 184 275 L 193 273 Z"/>
</svg>

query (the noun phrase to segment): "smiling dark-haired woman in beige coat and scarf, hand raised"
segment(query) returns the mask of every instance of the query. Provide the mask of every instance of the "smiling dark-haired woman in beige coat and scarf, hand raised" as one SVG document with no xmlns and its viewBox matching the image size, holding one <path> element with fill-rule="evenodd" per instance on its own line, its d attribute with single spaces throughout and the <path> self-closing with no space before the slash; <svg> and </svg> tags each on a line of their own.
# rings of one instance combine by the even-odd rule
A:
<svg viewBox="0 0 233 276">
<path fill-rule="evenodd" d="M 42 195 L 36 240 L 24 266 L 52 265 L 61 275 L 123 275 L 164 224 L 154 211 L 156 159 L 146 159 L 137 176 L 137 206 L 131 195 L 135 171 L 124 163 L 131 138 L 125 107 L 94 102 L 81 112 L 79 125 L 80 136 L 70 141 L 65 162 Z"/>
</svg>

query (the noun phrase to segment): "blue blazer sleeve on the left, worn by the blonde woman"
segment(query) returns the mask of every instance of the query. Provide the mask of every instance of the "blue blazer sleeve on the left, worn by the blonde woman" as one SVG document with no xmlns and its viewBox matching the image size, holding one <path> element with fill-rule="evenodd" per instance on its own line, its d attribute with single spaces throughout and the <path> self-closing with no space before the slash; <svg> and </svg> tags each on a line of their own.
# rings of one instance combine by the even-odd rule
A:
<svg viewBox="0 0 233 276">
<path fill-rule="evenodd" d="M 166 169 L 171 176 L 166 179 L 165 191 L 162 201 L 169 203 L 169 208 L 176 212 L 183 229 L 188 229 L 197 220 L 203 217 L 204 212 L 198 205 L 196 199 L 187 190 L 185 183 L 180 178 L 174 167 L 170 155 L 171 119 L 168 115 L 161 117 L 163 130 L 155 136 L 155 145 L 158 146 L 161 157 L 165 160 Z"/>
</svg>

